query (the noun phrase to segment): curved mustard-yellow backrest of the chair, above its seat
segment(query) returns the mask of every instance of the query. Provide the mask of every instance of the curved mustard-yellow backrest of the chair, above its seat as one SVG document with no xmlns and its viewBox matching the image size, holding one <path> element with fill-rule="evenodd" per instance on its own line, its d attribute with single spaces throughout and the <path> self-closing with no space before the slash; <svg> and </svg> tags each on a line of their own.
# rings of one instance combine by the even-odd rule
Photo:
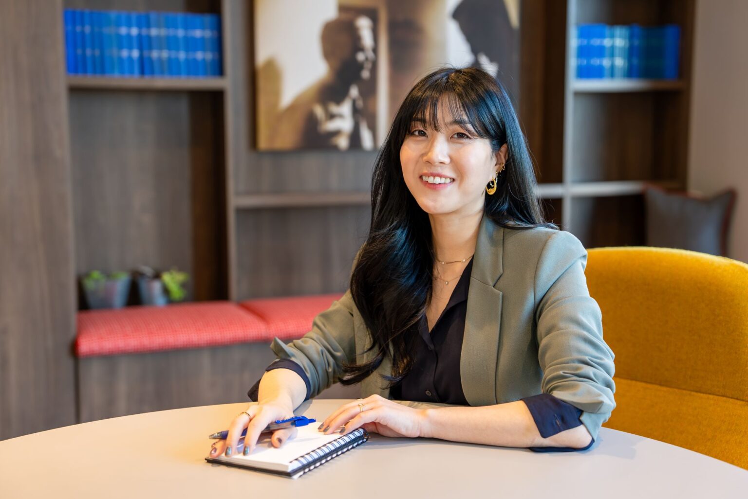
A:
<svg viewBox="0 0 748 499">
<path fill-rule="evenodd" d="M 748 264 L 653 247 L 588 254 L 616 376 L 748 401 Z"/>
</svg>

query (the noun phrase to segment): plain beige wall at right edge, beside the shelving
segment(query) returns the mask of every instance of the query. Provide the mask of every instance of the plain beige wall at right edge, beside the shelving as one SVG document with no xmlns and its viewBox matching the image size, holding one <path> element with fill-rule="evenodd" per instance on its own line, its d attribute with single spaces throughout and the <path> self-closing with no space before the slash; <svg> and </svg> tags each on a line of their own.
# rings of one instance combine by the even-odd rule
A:
<svg viewBox="0 0 748 499">
<path fill-rule="evenodd" d="M 728 255 L 748 262 L 748 1 L 697 0 L 688 187 L 738 190 Z"/>
</svg>

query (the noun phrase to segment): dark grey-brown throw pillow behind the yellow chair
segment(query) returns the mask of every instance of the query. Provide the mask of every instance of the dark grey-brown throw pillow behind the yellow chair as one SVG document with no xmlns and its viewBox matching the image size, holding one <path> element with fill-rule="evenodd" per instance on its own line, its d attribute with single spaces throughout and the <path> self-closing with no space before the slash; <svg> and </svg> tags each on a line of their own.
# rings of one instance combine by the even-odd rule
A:
<svg viewBox="0 0 748 499">
<path fill-rule="evenodd" d="M 727 256 L 727 236 L 735 197 L 733 189 L 705 198 L 646 185 L 647 246 Z"/>
</svg>

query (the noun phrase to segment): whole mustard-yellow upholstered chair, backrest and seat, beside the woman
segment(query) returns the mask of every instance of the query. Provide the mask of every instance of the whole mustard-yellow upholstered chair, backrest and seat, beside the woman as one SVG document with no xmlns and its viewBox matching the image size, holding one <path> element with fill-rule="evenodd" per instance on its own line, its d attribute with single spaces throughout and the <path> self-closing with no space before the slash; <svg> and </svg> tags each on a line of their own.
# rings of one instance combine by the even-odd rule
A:
<svg viewBox="0 0 748 499">
<path fill-rule="evenodd" d="M 604 427 L 748 469 L 748 264 L 683 249 L 589 249 L 616 356 Z"/>
</svg>

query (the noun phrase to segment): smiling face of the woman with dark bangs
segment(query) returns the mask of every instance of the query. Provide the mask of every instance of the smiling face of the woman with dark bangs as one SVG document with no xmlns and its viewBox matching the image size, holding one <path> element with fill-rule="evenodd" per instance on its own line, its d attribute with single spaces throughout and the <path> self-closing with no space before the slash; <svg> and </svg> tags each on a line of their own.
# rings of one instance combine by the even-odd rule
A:
<svg viewBox="0 0 748 499">
<path fill-rule="evenodd" d="M 428 214 L 473 214 L 482 211 L 485 186 L 499 163 L 506 162 L 506 144 L 494 153 L 488 139 L 476 136 L 470 124 L 450 114 L 444 99 L 438 105 L 441 131 L 411 123 L 400 148 L 405 185 Z"/>
</svg>

